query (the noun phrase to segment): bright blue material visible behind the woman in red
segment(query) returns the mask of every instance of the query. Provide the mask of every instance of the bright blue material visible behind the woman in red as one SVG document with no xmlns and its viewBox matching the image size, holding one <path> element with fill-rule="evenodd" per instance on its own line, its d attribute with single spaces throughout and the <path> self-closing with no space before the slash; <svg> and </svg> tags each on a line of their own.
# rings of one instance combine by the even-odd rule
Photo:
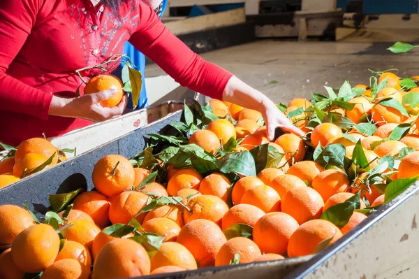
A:
<svg viewBox="0 0 419 279">
<path fill-rule="evenodd" d="M 163 15 L 164 11 L 166 10 L 167 4 L 168 4 L 168 0 L 163 0 L 163 7 L 162 7 L 160 15 Z M 134 46 L 131 45 L 131 43 L 129 42 L 126 42 L 124 45 L 124 54 L 126 54 L 126 56 L 128 56 L 131 59 L 131 62 L 133 62 L 133 64 L 138 67 L 138 70 L 140 70 L 142 74 L 142 88 L 140 92 L 140 98 L 138 99 L 138 106 L 135 109 L 147 108 L 149 105 L 147 103 L 147 100 L 148 100 L 147 92 L 145 90 L 145 55 L 143 55 L 141 52 L 136 50 Z M 124 60 L 113 74 L 121 78 L 121 71 L 122 71 L 123 66 L 124 66 Z M 133 108 L 133 101 L 131 97 L 128 98 L 127 106 L 128 108 Z"/>
</svg>

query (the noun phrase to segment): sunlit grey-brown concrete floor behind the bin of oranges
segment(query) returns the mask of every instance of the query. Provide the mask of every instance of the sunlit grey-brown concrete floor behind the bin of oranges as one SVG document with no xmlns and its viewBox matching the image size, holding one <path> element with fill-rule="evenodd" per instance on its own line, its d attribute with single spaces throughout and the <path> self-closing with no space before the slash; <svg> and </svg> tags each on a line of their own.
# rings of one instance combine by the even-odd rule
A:
<svg viewBox="0 0 419 279">
<path fill-rule="evenodd" d="M 419 52 L 394 55 L 392 43 L 319 41 L 256 41 L 207 52 L 204 59 L 218 64 L 275 102 L 288 102 L 311 92 L 325 93 L 324 85 L 369 84 L 368 69 L 397 68 L 400 77 L 419 75 Z M 147 66 L 146 75 L 160 76 L 159 66 Z"/>
</svg>

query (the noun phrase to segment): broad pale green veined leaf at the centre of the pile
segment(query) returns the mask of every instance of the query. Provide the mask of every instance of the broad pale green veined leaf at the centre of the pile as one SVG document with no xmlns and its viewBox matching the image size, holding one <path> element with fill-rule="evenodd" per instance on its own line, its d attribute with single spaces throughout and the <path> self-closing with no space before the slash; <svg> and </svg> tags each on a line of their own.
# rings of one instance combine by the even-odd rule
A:
<svg viewBox="0 0 419 279">
<path fill-rule="evenodd" d="M 238 173 L 242 176 L 256 176 L 256 164 L 249 151 L 230 153 L 216 163 L 221 173 Z"/>
</svg>

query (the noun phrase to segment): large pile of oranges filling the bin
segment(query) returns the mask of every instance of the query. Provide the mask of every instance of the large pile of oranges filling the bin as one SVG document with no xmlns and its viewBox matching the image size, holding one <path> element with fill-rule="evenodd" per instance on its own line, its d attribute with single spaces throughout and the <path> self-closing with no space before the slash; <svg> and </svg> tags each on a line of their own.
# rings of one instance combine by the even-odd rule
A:
<svg viewBox="0 0 419 279">
<path fill-rule="evenodd" d="M 376 92 L 375 99 L 367 86 L 358 85 L 365 92 L 348 101 L 355 103 L 352 110 L 323 110 L 341 114 L 354 123 L 353 127 L 341 128 L 325 120 L 316 120 L 314 125 L 316 103 L 293 99 L 284 110 L 302 111 L 293 113 L 291 120 L 307 134 L 302 138 L 283 134 L 272 143 L 267 140 L 266 127 L 260 125 L 259 112 L 210 101 L 219 119 L 191 134 L 189 144 L 219 158 L 223 145 L 234 138 L 237 145 L 233 153 L 270 145 L 283 155 L 277 165 L 265 167 L 256 176 L 199 173 L 191 166 L 181 169 L 159 161 L 161 169 L 167 170 L 160 183 L 143 183 L 152 171 L 134 167 L 120 155 L 108 155 L 94 166 L 96 190 L 75 197 L 73 208 L 60 224 L 64 226 L 60 234 L 45 222 L 36 224 L 23 208 L 0 206 L 0 243 L 4 244 L 0 247 L 4 250 L 0 278 L 40 272 L 42 278 L 89 278 L 90 272 L 95 279 L 128 278 L 300 257 L 334 243 L 385 202 L 383 189 L 367 181 L 368 171 L 383 158 L 393 157 L 399 164 L 395 164 L 398 169 L 389 166 L 382 171 L 381 184 L 419 175 L 419 109 L 410 107 L 406 116 L 381 103 L 394 99 L 402 107 L 409 106 L 401 103 L 406 92 L 400 79 L 384 73 L 379 80 L 384 78 L 388 87 Z M 371 124 L 376 131 L 360 131 L 356 124 L 362 123 Z M 395 139 L 392 131 L 406 127 L 406 123 L 409 129 Z M 313 152 L 331 145 L 343 146 L 347 159 L 355 156 L 355 146 L 357 152 L 360 147 L 367 166 L 354 173 L 314 160 Z M 21 150 L 17 148 L 16 162 L 27 153 L 42 153 Z M 43 158 L 55 152 L 53 147 L 49 150 Z M 0 171 L 9 167 L 10 172 L 12 165 L 16 168 L 17 163 L 8 160 L 0 164 Z M 324 217 L 326 211 L 358 197 L 359 206 L 346 224 L 338 226 Z M 156 200 L 168 202 L 143 210 Z M 59 215 L 64 216 L 64 212 Z M 122 224 L 131 230 L 123 236 L 109 235 Z M 161 237 L 163 243 L 152 250 L 147 241 L 138 241 L 142 236 Z M 64 245 L 61 241 L 61 248 L 60 237 L 66 239 Z"/>
</svg>

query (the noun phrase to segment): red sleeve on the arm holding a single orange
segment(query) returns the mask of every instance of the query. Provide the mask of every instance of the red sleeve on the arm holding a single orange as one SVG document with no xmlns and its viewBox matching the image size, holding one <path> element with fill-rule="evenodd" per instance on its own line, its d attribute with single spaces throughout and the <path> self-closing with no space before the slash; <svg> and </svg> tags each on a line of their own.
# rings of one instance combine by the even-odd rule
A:
<svg viewBox="0 0 419 279">
<path fill-rule="evenodd" d="M 40 2 L 0 1 L 0 110 L 26 113 L 45 120 L 52 94 L 45 94 L 6 73 L 34 27 Z"/>
</svg>

